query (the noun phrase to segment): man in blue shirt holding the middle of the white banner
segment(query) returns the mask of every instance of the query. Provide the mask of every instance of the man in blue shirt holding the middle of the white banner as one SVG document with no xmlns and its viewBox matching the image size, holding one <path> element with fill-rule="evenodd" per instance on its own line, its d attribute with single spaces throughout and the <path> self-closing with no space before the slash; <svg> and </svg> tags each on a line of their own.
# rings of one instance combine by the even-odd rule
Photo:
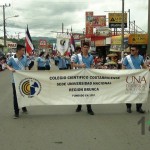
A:
<svg viewBox="0 0 150 150">
<path fill-rule="evenodd" d="M 89 43 L 84 42 L 83 47 L 81 50 L 81 55 L 77 55 L 76 59 L 74 60 L 73 67 L 77 68 L 93 68 L 94 66 L 94 60 L 93 56 L 88 53 L 89 51 Z M 80 112 L 82 108 L 82 105 L 78 105 L 76 112 Z M 94 115 L 94 112 L 92 110 L 92 107 L 90 104 L 87 104 L 87 112 L 90 115 Z"/>
</svg>

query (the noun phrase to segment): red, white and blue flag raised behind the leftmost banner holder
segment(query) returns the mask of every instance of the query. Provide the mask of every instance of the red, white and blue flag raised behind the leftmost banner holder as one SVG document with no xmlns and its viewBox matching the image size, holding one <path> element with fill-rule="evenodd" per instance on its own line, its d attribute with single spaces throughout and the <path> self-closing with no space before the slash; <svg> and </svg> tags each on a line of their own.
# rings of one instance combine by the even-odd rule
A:
<svg viewBox="0 0 150 150">
<path fill-rule="evenodd" d="M 26 53 L 31 54 L 32 51 L 34 50 L 33 44 L 32 44 L 32 39 L 28 30 L 26 30 L 26 37 L 25 37 L 25 46 L 26 46 Z"/>
</svg>

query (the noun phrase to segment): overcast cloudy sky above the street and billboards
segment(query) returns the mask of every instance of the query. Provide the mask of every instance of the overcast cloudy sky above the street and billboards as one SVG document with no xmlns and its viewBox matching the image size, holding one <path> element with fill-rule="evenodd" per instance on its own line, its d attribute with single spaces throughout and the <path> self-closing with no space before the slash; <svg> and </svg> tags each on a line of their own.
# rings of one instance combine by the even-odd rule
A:
<svg viewBox="0 0 150 150">
<path fill-rule="evenodd" d="M 125 11 L 130 9 L 130 20 L 147 32 L 148 0 L 124 0 Z M 106 15 L 122 10 L 122 0 L 0 0 L 5 8 L 7 35 L 20 38 L 25 36 L 27 24 L 31 36 L 55 37 L 61 31 L 82 33 L 85 28 L 85 12 Z M 19 17 L 12 17 L 19 15 Z M 0 7 L 0 36 L 3 36 L 3 8 Z"/>
</svg>

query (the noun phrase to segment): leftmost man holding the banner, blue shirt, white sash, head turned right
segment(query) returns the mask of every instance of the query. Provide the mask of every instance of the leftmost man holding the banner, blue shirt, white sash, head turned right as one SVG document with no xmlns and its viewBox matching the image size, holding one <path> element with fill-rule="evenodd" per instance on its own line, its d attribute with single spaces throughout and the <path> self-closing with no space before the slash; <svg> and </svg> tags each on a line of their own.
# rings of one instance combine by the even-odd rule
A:
<svg viewBox="0 0 150 150">
<path fill-rule="evenodd" d="M 24 55 L 25 47 L 23 45 L 17 45 L 16 54 L 7 62 L 7 69 L 11 72 L 15 72 L 15 70 L 25 70 L 28 67 L 28 59 Z M 13 88 L 13 103 L 14 103 L 14 119 L 19 118 L 19 107 L 18 107 L 18 101 L 17 101 L 17 95 L 16 95 L 16 88 L 15 88 L 15 82 L 14 79 L 12 81 L 12 88 Z M 27 113 L 26 107 L 22 107 L 22 111 L 24 113 Z"/>
</svg>

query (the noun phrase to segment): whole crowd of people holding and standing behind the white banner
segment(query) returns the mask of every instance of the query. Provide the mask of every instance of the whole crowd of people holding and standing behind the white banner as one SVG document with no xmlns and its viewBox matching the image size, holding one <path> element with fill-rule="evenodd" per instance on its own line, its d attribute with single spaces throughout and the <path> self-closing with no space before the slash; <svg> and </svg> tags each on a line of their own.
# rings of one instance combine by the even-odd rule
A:
<svg viewBox="0 0 150 150">
<path fill-rule="evenodd" d="M 29 56 L 24 55 L 25 47 L 22 45 L 17 45 L 16 53 L 9 57 L 3 57 L 0 59 L 0 65 L 2 69 L 7 68 L 11 72 L 15 70 L 31 70 L 34 66 L 35 60 L 37 62 L 37 70 L 50 70 L 51 69 L 51 59 L 54 60 L 55 65 L 59 70 L 66 69 L 80 69 L 80 68 L 95 68 L 95 69 L 148 69 L 150 66 L 149 56 L 144 57 L 139 55 L 139 48 L 135 45 L 131 46 L 131 54 L 124 54 L 122 60 L 117 59 L 116 54 L 104 56 L 92 56 L 89 53 L 89 43 L 84 42 L 82 47 L 77 46 L 75 51 L 71 54 L 70 52 L 65 52 L 61 55 L 59 51 L 55 53 L 54 56 L 50 57 L 50 54 L 41 52 L 39 56 L 35 59 L 34 54 Z M 19 108 L 16 96 L 15 82 L 12 80 L 13 88 L 13 102 L 14 102 L 14 118 L 19 117 Z M 127 112 L 131 113 L 131 104 L 126 104 Z M 80 112 L 82 105 L 78 105 L 76 112 Z M 136 105 L 136 110 L 139 113 L 145 113 L 142 109 L 142 104 Z M 23 107 L 22 111 L 27 113 L 27 108 Z M 90 115 L 94 115 L 92 106 L 87 104 L 87 112 Z"/>
</svg>

